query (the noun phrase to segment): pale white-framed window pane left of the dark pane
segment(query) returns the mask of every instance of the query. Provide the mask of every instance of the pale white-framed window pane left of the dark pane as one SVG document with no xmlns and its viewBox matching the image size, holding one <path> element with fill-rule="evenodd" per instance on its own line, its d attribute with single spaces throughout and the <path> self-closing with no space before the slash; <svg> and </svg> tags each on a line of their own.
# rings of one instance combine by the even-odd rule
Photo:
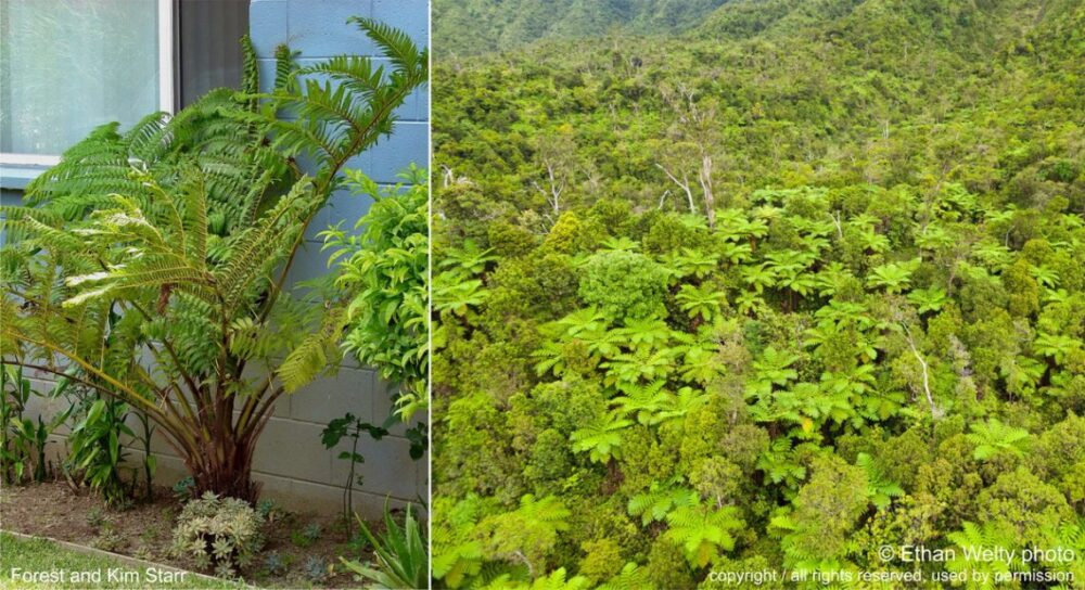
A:
<svg viewBox="0 0 1085 590">
<path fill-rule="evenodd" d="M 173 111 L 171 0 L 0 0 L 0 163 Z"/>
</svg>

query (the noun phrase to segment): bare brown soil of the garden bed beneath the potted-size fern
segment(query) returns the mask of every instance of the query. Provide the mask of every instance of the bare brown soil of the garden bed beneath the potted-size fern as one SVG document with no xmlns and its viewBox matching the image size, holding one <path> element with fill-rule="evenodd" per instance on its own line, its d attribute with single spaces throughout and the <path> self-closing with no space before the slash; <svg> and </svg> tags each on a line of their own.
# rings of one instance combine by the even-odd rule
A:
<svg viewBox="0 0 1085 590">
<path fill-rule="evenodd" d="M 166 488 L 155 490 L 153 502 L 136 502 L 126 509 L 106 508 L 102 499 L 86 489 L 74 490 L 66 482 L 0 488 L 0 528 L 49 537 L 131 555 L 174 567 L 201 570 L 187 557 L 170 553 L 173 529 L 180 502 Z M 310 540 L 319 526 L 319 536 Z M 357 528 L 357 526 L 355 526 Z M 370 526 L 373 530 L 373 526 Z M 306 530 L 310 531 L 306 537 Z M 363 583 L 346 572 L 340 556 L 368 561 L 366 548 L 352 547 L 343 518 L 324 514 L 286 512 L 276 509 L 265 526 L 267 539 L 254 563 L 241 572 L 250 583 L 265 588 L 361 588 Z M 268 570 L 268 555 L 275 553 L 285 567 Z M 307 562 L 319 561 L 330 573 L 322 580 L 310 578 Z M 312 566 L 317 569 L 317 566 Z"/>
</svg>

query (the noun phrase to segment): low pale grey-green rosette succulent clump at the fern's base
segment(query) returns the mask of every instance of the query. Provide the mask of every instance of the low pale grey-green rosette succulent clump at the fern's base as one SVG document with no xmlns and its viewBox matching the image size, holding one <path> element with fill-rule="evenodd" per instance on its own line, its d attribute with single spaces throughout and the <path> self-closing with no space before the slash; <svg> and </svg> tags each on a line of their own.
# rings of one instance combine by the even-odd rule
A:
<svg viewBox="0 0 1085 590">
<path fill-rule="evenodd" d="M 184 505 L 174 529 L 174 551 L 202 568 L 232 577 L 264 544 L 259 514 L 244 500 L 206 492 Z"/>
</svg>

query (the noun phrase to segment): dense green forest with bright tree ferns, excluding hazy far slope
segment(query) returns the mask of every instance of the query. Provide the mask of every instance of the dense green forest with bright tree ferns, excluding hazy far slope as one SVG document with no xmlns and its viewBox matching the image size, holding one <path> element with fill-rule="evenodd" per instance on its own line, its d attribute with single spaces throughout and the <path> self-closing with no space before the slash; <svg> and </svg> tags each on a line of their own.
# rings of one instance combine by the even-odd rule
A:
<svg viewBox="0 0 1085 590">
<path fill-rule="evenodd" d="M 1059 0 L 438 61 L 437 583 L 1085 581 L 1083 66 Z"/>
</svg>

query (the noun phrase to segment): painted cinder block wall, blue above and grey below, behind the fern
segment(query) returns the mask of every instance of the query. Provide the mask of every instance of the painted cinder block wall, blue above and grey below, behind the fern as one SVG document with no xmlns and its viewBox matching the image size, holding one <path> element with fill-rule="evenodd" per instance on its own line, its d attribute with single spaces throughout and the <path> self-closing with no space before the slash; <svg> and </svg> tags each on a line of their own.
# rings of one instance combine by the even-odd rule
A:
<svg viewBox="0 0 1085 590">
<path fill-rule="evenodd" d="M 250 27 L 253 44 L 270 85 L 275 72 L 273 52 L 279 43 L 288 43 L 299 52 L 299 63 L 311 63 L 332 55 L 350 53 L 374 55 L 376 49 L 349 16 L 371 16 L 407 31 L 420 47 L 429 44 L 429 11 L 425 0 L 252 0 Z M 354 158 L 347 167 L 366 172 L 376 182 L 394 184 L 398 172 L 411 163 L 425 167 L 429 159 L 427 88 L 410 97 L 397 113 L 393 134 L 382 139 L 369 152 Z M 4 202 L 15 201 L 4 195 Z M 14 204 L 14 203 L 13 203 Z M 304 280 L 328 272 L 327 255 L 320 253 L 316 234 L 328 225 L 354 222 L 366 214 L 370 201 L 342 192 L 333 196 L 329 207 L 314 223 L 304 249 L 294 265 L 293 279 Z M 38 392 L 53 387 L 49 375 L 28 373 Z M 347 359 L 337 375 L 315 382 L 292 396 L 284 396 L 276 407 L 257 445 L 254 476 L 263 483 L 263 497 L 272 498 L 286 508 L 333 512 L 342 505 L 343 486 L 349 465 L 336 459 L 349 450 L 346 441 L 334 449 L 324 449 L 320 433 L 327 423 L 349 412 L 365 421 L 380 424 L 392 407 L 390 385 L 376 374 Z M 63 399 L 35 397 L 28 415 L 53 415 L 66 408 Z M 133 423 L 135 427 L 135 423 Z M 404 437 L 405 427 L 397 425 L 392 434 L 379 441 L 363 435 L 359 452 L 366 457 L 356 475 L 363 483 L 355 485 L 355 510 L 366 517 L 378 517 L 385 500 L 393 506 L 406 502 L 427 501 L 429 457 L 414 461 L 410 445 Z M 66 428 L 53 437 L 50 456 L 63 453 Z M 176 452 L 155 435 L 152 451 L 157 457 L 156 479 L 171 485 L 186 475 Z M 127 452 L 132 459 L 141 453 L 132 446 Z"/>
</svg>

